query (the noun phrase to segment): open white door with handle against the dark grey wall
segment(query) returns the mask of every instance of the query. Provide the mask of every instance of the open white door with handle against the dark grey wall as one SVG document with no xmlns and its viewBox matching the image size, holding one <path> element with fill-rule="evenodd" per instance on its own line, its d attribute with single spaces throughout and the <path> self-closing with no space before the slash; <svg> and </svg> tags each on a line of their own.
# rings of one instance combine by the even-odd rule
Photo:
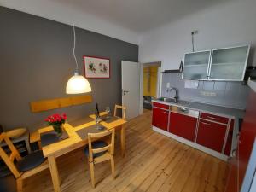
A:
<svg viewBox="0 0 256 192">
<path fill-rule="evenodd" d="M 122 61 L 122 105 L 126 107 L 126 119 L 139 115 L 140 109 L 140 65 Z"/>
</svg>

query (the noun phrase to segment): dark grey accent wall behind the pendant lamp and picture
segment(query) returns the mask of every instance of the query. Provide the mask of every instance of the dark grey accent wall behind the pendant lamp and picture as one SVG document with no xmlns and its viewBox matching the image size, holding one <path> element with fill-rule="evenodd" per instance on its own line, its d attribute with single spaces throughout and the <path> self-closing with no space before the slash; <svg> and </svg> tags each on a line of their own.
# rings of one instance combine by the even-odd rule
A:
<svg viewBox="0 0 256 192">
<path fill-rule="evenodd" d="M 76 28 L 76 55 L 83 72 L 83 55 L 109 58 L 110 79 L 89 79 L 93 103 L 31 113 L 29 102 L 67 97 L 73 75 L 73 26 L 0 7 L 0 124 L 9 130 L 46 125 L 52 113 L 67 113 L 73 121 L 121 103 L 121 61 L 138 61 L 138 46 Z"/>
</svg>

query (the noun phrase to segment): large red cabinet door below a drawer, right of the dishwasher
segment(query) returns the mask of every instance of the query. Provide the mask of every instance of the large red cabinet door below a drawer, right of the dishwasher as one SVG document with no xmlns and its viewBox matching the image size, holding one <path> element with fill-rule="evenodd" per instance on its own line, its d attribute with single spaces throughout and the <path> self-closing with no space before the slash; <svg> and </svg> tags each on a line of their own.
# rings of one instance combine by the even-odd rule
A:
<svg viewBox="0 0 256 192">
<path fill-rule="evenodd" d="M 200 119 L 196 143 L 221 152 L 224 144 L 226 129 L 226 125 L 212 123 L 210 121 Z"/>
</svg>

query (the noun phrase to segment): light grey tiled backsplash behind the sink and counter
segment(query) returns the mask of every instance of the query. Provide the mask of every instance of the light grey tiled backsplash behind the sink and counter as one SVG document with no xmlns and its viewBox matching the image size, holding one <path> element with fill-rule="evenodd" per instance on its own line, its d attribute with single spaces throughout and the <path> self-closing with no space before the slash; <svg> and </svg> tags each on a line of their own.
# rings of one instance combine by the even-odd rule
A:
<svg viewBox="0 0 256 192">
<path fill-rule="evenodd" d="M 171 87 L 177 87 L 181 100 L 204 102 L 229 108 L 246 108 L 249 94 L 247 85 L 243 85 L 241 82 L 199 81 L 197 89 L 190 89 L 185 88 L 185 80 L 181 78 L 181 75 L 181 73 L 162 74 L 161 96 L 174 96 L 175 91 L 166 91 L 166 84 L 169 82 Z"/>
</svg>

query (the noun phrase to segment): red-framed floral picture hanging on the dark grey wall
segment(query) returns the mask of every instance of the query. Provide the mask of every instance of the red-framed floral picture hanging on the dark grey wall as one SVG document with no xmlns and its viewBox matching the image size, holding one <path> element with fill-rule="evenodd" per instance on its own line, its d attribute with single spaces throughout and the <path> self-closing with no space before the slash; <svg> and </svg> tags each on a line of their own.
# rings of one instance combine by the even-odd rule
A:
<svg viewBox="0 0 256 192">
<path fill-rule="evenodd" d="M 84 55 L 85 78 L 110 78 L 110 60 Z"/>
</svg>

